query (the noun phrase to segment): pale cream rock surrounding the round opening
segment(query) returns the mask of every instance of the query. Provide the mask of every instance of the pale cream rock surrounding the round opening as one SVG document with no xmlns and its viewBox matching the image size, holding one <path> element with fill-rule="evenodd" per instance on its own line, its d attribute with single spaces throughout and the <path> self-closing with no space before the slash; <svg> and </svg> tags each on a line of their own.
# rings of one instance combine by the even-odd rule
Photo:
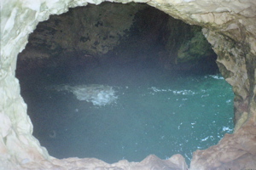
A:
<svg viewBox="0 0 256 170">
<path fill-rule="evenodd" d="M 129 3 L 125 1 L 113 1 Z M 254 0 L 152 0 L 148 3 L 191 25 L 203 34 L 218 54 L 218 67 L 236 95 L 235 133 L 217 145 L 196 150 L 189 169 L 253 169 L 256 167 L 256 2 Z M 1 1 L 0 61 L 0 169 L 186 169 L 183 156 L 168 160 L 148 156 L 141 162 L 108 164 L 94 158 L 49 156 L 32 136 L 32 122 L 15 78 L 17 55 L 28 35 L 50 14 L 101 0 L 9 0 Z"/>
</svg>

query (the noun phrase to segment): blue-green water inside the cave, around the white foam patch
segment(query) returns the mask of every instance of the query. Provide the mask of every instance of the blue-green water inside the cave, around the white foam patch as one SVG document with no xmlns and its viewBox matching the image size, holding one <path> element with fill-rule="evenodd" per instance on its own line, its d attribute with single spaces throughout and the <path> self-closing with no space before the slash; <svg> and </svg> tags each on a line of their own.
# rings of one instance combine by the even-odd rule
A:
<svg viewBox="0 0 256 170">
<path fill-rule="evenodd" d="M 61 72 L 61 71 L 60 71 Z M 107 105 L 79 100 L 61 84 L 111 86 Z M 96 157 L 113 163 L 166 159 L 217 144 L 233 130 L 230 85 L 218 74 L 189 75 L 128 67 L 20 78 L 34 136 L 51 156 Z"/>
</svg>

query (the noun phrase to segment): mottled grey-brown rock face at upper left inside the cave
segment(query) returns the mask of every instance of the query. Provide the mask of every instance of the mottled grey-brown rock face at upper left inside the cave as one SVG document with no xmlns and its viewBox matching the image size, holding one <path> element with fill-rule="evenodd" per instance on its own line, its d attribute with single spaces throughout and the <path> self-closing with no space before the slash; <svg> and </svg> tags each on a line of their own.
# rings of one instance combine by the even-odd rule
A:
<svg viewBox="0 0 256 170">
<path fill-rule="evenodd" d="M 49 20 L 39 23 L 28 45 L 36 51 L 50 51 L 50 56 L 73 51 L 95 56 L 106 54 L 119 44 L 133 24 L 135 14 L 143 8 L 145 5 L 136 3 L 70 8 L 65 14 L 51 15 Z"/>
</svg>

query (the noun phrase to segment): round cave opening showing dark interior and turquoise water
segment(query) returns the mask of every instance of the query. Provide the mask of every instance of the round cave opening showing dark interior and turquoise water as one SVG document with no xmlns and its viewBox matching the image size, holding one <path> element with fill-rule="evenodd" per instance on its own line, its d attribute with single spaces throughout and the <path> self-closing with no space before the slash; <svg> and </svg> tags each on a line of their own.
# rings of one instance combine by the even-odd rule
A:
<svg viewBox="0 0 256 170">
<path fill-rule="evenodd" d="M 99 31 L 108 36 L 100 35 L 95 42 L 88 34 L 61 40 L 90 42 L 90 48 L 77 44 L 67 49 L 53 43 L 55 34 L 66 33 L 60 17 L 76 16 L 77 9 L 90 10 L 100 18 L 90 22 L 92 29 L 114 27 L 111 14 L 117 10 L 100 14 L 98 8 L 114 10 L 115 5 L 139 6 L 128 14 L 133 24 L 114 40 L 118 44 L 110 47 L 99 41 L 115 38 L 103 28 Z M 199 27 L 181 23 L 138 3 L 72 8 L 40 23 L 18 56 L 16 76 L 33 135 L 49 155 L 96 157 L 112 163 L 141 161 L 149 154 L 166 159 L 180 153 L 189 161 L 193 151 L 207 149 L 224 133 L 231 133 L 230 85 L 219 75 L 213 52 L 195 50 L 207 47 Z M 72 26 L 70 31 L 80 34 Z M 49 37 L 52 42 L 47 42 Z M 197 58 L 200 55 L 207 56 Z"/>
</svg>

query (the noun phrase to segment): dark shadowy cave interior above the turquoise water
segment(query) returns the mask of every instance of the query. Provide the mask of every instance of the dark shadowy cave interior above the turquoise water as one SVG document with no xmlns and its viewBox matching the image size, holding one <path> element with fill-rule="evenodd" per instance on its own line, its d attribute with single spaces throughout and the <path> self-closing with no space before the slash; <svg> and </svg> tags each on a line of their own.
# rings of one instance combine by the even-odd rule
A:
<svg viewBox="0 0 256 170">
<path fill-rule="evenodd" d="M 17 75 L 123 65 L 214 74 L 215 59 L 199 26 L 142 3 L 102 3 L 39 23 L 18 56 Z"/>
</svg>

